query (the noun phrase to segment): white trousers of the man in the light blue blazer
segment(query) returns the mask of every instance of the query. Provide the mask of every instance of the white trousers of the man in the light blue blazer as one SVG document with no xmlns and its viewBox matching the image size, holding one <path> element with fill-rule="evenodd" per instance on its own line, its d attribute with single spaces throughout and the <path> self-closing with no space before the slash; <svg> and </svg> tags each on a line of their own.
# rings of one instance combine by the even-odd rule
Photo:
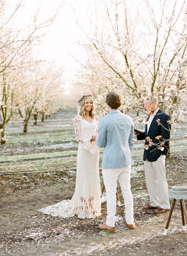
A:
<svg viewBox="0 0 187 256">
<path fill-rule="evenodd" d="M 116 191 L 117 180 L 119 181 L 121 192 L 125 204 L 125 219 L 127 224 L 133 224 L 133 197 L 130 185 L 131 166 L 121 168 L 103 168 L 102 175 L 106 189 L 107 217 L 106 225 L 115 227 L 116 214 Z"/>
</svg>

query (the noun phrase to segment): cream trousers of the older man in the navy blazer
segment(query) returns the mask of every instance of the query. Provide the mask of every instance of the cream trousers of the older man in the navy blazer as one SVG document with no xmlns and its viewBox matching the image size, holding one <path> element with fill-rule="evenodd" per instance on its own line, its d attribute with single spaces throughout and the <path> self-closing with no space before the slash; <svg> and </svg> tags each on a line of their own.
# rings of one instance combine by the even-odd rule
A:
<svg viewBox="0 0 187 256">
<path fill-rule="evenodd" d="M 161 155 L 155 162 L 148 162 L 146 159 L 144 169 L 151 205 L 170 209 L 165 157 L 165 155 Z"/>
</svg>

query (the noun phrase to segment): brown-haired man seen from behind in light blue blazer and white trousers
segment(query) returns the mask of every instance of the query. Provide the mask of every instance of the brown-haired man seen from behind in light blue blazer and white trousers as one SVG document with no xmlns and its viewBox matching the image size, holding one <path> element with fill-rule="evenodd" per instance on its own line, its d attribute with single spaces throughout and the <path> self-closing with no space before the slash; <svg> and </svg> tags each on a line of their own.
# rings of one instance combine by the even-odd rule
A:
<svg viewBox="0 0 187 256">
<path fill-rule="evenodd" d="M 134 125 L 130 116 L 119 111 L 122 104 L 120 95 L 109 92 L 105 102 L 109 113 L 99 120 L 96 144 L 104 147 L 102 176 L 106 189 L 107 217 L 106 224 L 100 224 L 99 228 L 114 232 L 117 180 L 124 197 L 127 225 L 129 229 L 135 228 L 130 185 Z"/>
</svg>

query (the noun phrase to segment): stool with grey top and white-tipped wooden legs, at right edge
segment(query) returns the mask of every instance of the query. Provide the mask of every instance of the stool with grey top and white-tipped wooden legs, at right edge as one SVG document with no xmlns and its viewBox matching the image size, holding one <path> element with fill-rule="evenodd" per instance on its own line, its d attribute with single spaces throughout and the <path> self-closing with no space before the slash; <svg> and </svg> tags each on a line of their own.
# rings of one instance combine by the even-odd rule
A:
<svg viewBox="0 0 187 256">
<path fill-rule="evenodd" d="M 167 229 L 169 227 L 169 222 L 170 222 L 170 219 L 171 219 L 171 214 L 173 212 L 173 208 L 174 208 L 176 199 L 180 199 L 180 209 L 181 209 L 181 216 L 182 216 L 182 228 L 183 228 L 183 231 L 186 231 L 184 216 L 186 218 L 186 223 L 187 223 L 187 212 L 186 212 L 186 207 L 185 207 L 185 204 L 184 204 L 184 199 L 187 198 L 187 190 L 185 190 L 185 191 L 175 191 L 173 189 L 169 189 L 169 198 L 173 198 L 173 203 L 172 203 L 172 206 L 171 206 L 171 209 L 170 209 L 170 212 L 169 212 L 169 216 L 168 216 L 168 220 L 167 220 L 167 224 L 166 224 L 166 227 L 165 227 L 165 230 L 164 230 L 164 234 L 163 234 L 164 236 L 167 235 Z"/>
</svg>

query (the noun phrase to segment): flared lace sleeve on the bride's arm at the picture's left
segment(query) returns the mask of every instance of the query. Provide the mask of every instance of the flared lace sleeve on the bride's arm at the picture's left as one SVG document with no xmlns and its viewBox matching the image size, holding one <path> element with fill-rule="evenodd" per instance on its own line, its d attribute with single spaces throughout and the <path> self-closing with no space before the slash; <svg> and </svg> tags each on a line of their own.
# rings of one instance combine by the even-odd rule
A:
<svg viewBox="0 0 187 256">
<path fill-rule="evenodd" d="M 89 136 L 89 138 L 82 138 L 81 137 L 81 127 L 80 127 L 80 117 L 75 116 L 74 118 L 74 129 L 75 129 L 75 137 L 77 142 L 81 143 L 83 145 L 83 148 L 90 151 L 91 147 L 91 137 L 92 135 Z"/>
</svg>

